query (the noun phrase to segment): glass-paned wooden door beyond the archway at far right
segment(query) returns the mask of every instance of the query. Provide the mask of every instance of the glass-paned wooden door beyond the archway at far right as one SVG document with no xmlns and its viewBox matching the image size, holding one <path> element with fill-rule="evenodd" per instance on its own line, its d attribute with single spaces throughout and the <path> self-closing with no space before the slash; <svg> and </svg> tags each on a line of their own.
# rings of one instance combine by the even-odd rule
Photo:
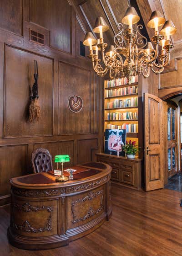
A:
<svg viewBox="0 0 182 256">
<path fill-rule="evenodd" d="M 167 101 L 167 171 L 168 178 L 178 171 L 177 166 L 178 143 L 177 143 L 177 104 Z"/>
</svg>

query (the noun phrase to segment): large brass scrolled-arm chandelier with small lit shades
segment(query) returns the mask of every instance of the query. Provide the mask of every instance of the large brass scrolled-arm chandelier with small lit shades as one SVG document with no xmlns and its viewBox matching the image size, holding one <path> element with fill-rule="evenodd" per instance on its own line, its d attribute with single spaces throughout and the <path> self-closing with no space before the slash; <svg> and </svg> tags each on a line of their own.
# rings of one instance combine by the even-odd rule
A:
<svg viewBox="0 0 182 256">
<path fill-rule="evenodd" d="M 164 67 L 170 62 L 170 52 L 174 47 L 170 40 L 170 36 L 176 33 L 177 28 L 172 21 L 165 21 L 165 18 L 159 11 L 153 11 L 147 26 L 155 29 L 152 42 L 142 35 L 140 24 L 133 28 L 133 24 L 140 20 L 134 7 L 130 6 L 128 0 L 128 8 L 122 23 L 127 25 L 123 27 L 122 23 L 118 23 L 119 33 L 114 37 L 114 45 L 107 46 L 104 43 L 103 32 L 109 27 L 103 17 L 96 19 L 93 32 L 100 33 L 100 38 L 96 39 L 92 32 L 87 32 L 83 44 L 89 46 L 89 58 L 97 75 L 105 76 L 109 72 L 111 79 L 115 77 L 126 77 L 128 84 L 131 83 L 131 77 L 143 75 L 147 78 L 150 75 L 150 69 L 155 74 L 163 71 Z M 159 32 L 159 27 L 162 27 Z M 161 45 L 161 53 L 159 54 L 159 45 Z"/>
</svg>

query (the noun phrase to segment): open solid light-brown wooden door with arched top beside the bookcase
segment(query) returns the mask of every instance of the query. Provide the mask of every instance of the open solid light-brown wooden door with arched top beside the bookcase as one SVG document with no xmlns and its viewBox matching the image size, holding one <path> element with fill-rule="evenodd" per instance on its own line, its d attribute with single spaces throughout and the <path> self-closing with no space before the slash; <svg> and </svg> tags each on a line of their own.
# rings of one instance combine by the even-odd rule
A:
<svg viewBox="0 0 182 256">
<path fill-rule="evenodd" d="M 164 187 L 163 103 L 144 94 L 145 189 Z"/>
</svg>

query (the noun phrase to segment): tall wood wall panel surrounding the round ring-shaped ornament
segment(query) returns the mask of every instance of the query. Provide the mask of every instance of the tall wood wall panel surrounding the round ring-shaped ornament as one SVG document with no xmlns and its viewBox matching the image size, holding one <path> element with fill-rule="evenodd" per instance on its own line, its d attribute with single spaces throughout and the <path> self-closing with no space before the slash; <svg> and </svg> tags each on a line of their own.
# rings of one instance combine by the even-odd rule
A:
<svg viewBox="0 0 182 256">
<path fill-rule="evenodd" d="M 70 96 L 81 96 L 79 113 L 68 108 Z M 91 72 L 59 63 L 59 135 L 91 133 Z"/>
</svg>

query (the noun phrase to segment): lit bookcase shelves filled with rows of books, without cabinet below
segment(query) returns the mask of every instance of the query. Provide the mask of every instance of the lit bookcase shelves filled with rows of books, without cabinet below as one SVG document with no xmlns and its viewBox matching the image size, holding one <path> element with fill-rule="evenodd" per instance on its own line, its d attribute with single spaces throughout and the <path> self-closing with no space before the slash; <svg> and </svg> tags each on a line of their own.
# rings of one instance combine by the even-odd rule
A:
<svg viewBox="0 0 182 256">
<path fill-rule="evenodd" d="M 105 80 L 104 131 L 126 129 L 126 140 L 138 144 L 138 80 L 132 77 L 131 85 L 126 78 Z"/>
</svg>

